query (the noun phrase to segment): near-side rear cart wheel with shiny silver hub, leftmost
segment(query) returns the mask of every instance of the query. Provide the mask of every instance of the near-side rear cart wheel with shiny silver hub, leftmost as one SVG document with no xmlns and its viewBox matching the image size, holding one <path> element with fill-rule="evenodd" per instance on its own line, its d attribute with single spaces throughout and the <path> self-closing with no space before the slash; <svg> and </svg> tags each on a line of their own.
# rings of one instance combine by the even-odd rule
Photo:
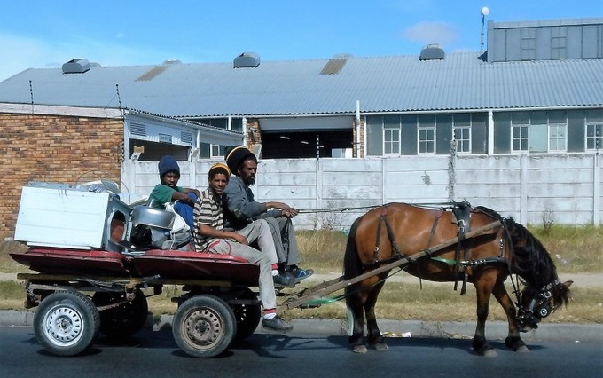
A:
<svg viewBox="0 0 603 378">
<path fill-rule="evenodd" d="M 74 356 L 89 348 L 99 324 L 94 303 L 76 291 L 48 295 L 34 315 L 35 337 L 56 356 Z"/>
</svg>

